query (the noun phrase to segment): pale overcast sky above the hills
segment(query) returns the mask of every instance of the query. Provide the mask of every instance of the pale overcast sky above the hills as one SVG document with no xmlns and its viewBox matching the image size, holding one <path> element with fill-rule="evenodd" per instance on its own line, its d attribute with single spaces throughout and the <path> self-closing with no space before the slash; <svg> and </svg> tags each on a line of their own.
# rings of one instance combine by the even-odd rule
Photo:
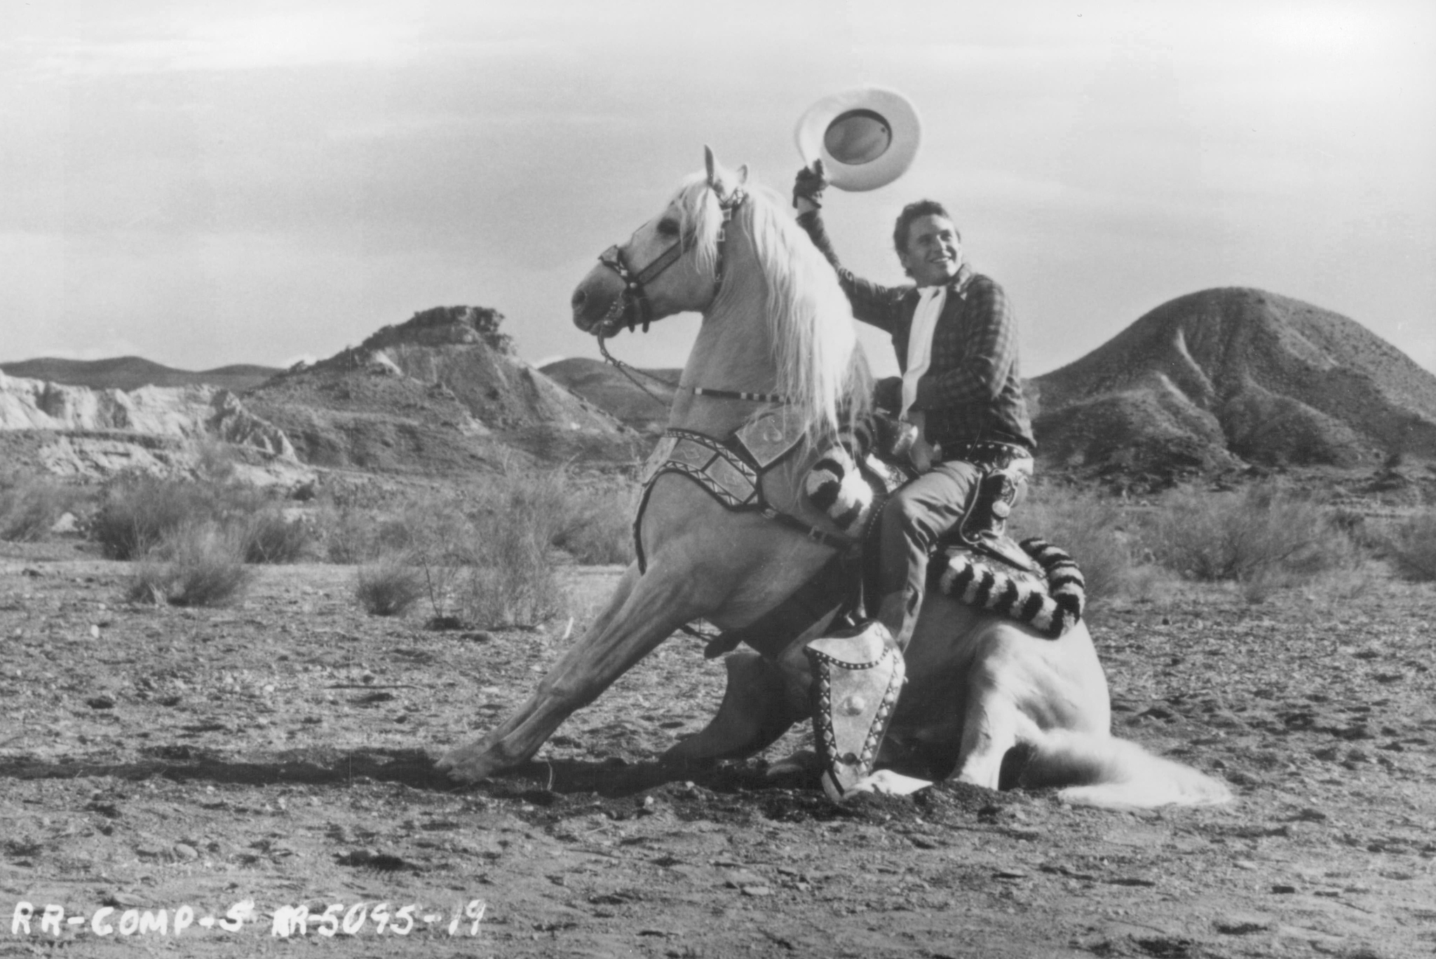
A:
<svg viewBox="0 0 1436 959">
<path fill-rule="evenodd" d="M 1027 375 L 1212 286 L 1436 370 L 1430 0 L 4 0 L 0 360 L 286 365 L 438 304 L 597 356 L 567 310 L 596 254 L 704 144 L 785 192 L 798 115 L 862 83 L 925 138 L 830 191 L 839 253 L 900 281 L 896 211 L 942 200 Z M 694 330 L 615 352 L 676 366 Z"/>
</svg>

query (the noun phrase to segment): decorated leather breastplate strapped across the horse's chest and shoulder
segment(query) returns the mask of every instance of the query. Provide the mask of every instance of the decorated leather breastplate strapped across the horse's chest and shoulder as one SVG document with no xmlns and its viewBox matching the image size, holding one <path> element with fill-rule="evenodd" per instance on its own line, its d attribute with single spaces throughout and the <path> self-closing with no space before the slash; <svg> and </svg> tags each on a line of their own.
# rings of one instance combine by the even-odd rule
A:
<svg viewBox="0 0 1436 959">
<path fill-rule="evenodd" d="M 787 408 L 748 421 L 728 439 L 714 439 L 692 429 L 663 431 L 663 438 L 653 446 L 643 465 L 640 477 L 643 494 L 633 517 L 633 547 L 638 553 L 639 571 L 648 567 L 640 535 L 643 510 L 653 484 L 668 472 L 688 477 L 735 513 L 761 513 L 820 543 L 834 547 L 852 546 L 846 537 L 824 533 L 775 510 L 763 494 L 763 475 L 781 464 L 801 442 L 803 422 Z"/>
</svg>

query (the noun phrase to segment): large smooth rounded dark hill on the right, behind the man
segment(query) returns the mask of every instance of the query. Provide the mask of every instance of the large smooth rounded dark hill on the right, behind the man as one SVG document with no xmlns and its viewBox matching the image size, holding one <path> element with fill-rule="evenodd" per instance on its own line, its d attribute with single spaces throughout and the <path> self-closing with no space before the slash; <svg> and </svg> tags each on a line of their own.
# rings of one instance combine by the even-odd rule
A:
<svg viewBox="0 0 1436 959">
<path fill-rule="evenodd" d="M 1178 297 L 1031 380 L 1044 459 L 1170 480 L 1436 457 L 1436 376 L 1344 316 L 1254 289 Z"/>
</svg>

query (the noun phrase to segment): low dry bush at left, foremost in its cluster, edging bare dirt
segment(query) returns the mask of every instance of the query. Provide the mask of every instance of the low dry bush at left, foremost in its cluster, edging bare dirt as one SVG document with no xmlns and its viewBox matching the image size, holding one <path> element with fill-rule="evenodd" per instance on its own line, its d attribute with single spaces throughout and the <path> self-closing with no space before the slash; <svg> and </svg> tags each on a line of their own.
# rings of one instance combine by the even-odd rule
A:
<svg viewBox="0 0 1436 959">
<path fill-rule="evenodd" d="M 135 603 L 220 606 L 246 586 L 248 576 L 236 530 L 214 521 L 181 523 L 141 560 L 126 597 Z"/>
</svg>

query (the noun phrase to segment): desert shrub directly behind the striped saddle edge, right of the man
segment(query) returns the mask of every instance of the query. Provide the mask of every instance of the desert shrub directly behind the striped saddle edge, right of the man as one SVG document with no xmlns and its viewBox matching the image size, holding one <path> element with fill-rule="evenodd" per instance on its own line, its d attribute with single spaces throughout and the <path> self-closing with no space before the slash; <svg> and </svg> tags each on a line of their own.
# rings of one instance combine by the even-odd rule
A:
<svg viewBox="0 0 1436 959">
<path fill-rule="evenodd" d="M 1012 513 L 1008 533 L 1040 537 L 1071 554 L 1087 580 L 1087 602 L 1122 596 L 1136 583 L 1133 537 L 1120 502 L 1096 492 L 1028 487 Z"/>
</svg>

